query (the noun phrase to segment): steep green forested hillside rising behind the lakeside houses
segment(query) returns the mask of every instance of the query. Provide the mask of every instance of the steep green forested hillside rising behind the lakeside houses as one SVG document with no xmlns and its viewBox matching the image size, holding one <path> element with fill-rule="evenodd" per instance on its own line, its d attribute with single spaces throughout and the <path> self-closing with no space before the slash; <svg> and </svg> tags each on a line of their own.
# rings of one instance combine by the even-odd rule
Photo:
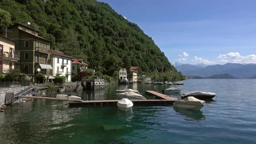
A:
<svg viewBox="0 0 256 144">
<path fill-rule="evenodd" d="M 57 49 L 113 76 L 120 67 L 139 66 L 158 80 L 182 79 L 151 37 L 95 0 L 0 0 L 11 24 L 31 23 Z M 2 27 L 3 28 L 3 27 Z M 171 70 L 171 71 L 170 71 Z M 172 76 L 172 77 L 171 77 Z"/>
</svg>

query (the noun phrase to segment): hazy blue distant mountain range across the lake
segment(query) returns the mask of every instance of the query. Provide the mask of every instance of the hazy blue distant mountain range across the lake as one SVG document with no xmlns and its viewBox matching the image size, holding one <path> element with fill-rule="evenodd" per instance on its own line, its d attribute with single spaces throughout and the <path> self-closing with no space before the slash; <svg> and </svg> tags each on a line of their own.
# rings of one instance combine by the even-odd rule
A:
<svg viewBox="0 0 256 144">
<path fill-rule="evenodd" d="M 253 78 L 256 76 L 256 64 L 226 63 L 224 65 L 208 65 L 206 67 L 183 64 L 175 66 L 184 75 L 209 77 L 218 74 L 230 74 L 237 78 Z"/>
</svg>

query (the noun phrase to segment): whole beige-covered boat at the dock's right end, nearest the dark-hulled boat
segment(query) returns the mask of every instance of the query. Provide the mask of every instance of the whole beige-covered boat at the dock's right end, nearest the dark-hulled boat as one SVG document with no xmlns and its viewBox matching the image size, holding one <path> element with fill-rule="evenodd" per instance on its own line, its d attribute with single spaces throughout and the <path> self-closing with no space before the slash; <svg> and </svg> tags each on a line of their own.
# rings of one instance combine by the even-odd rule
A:
<svg viewBox="0 0 256 144">
<path fill-rule="evenodd" d="M 179 108 L 200 110 L 205 105 L 205 101 L 189 96 L 182 100 L 175 101 L 173 105 Z"/>
</svg>

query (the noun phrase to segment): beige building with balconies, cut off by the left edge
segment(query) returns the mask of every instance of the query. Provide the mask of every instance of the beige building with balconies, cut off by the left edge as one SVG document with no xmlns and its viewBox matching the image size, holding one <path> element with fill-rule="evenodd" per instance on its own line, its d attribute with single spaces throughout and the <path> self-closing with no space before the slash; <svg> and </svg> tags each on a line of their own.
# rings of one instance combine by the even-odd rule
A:
<svg viewBox="0 0 256 144">
<path fill-rule="evenodd" d="M 14 62 L 18 62 L 20 54 L 15 53 L 15 41 L 0 36 L 0 74 L 6 75 L 14 69 Z"/>
</svg>

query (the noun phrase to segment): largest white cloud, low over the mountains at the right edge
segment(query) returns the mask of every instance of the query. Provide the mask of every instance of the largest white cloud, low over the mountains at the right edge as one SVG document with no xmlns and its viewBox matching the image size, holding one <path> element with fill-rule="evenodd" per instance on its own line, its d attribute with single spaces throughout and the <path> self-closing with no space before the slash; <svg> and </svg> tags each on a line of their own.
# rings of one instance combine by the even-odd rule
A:
<svg viewBox="0 0 256 144">
<path fill-rule="evenodd" d="M 242 56 L 239 52 L 229 52 L 227 54 L 220 54 L 217 57 L 220 59 L 220 62 L 234 62 L 234 63 L 241 63 L 241 64 L 248 64 L 248 63 L 256 63 L 256 55 L 248 55 Z"/>
</svg>

